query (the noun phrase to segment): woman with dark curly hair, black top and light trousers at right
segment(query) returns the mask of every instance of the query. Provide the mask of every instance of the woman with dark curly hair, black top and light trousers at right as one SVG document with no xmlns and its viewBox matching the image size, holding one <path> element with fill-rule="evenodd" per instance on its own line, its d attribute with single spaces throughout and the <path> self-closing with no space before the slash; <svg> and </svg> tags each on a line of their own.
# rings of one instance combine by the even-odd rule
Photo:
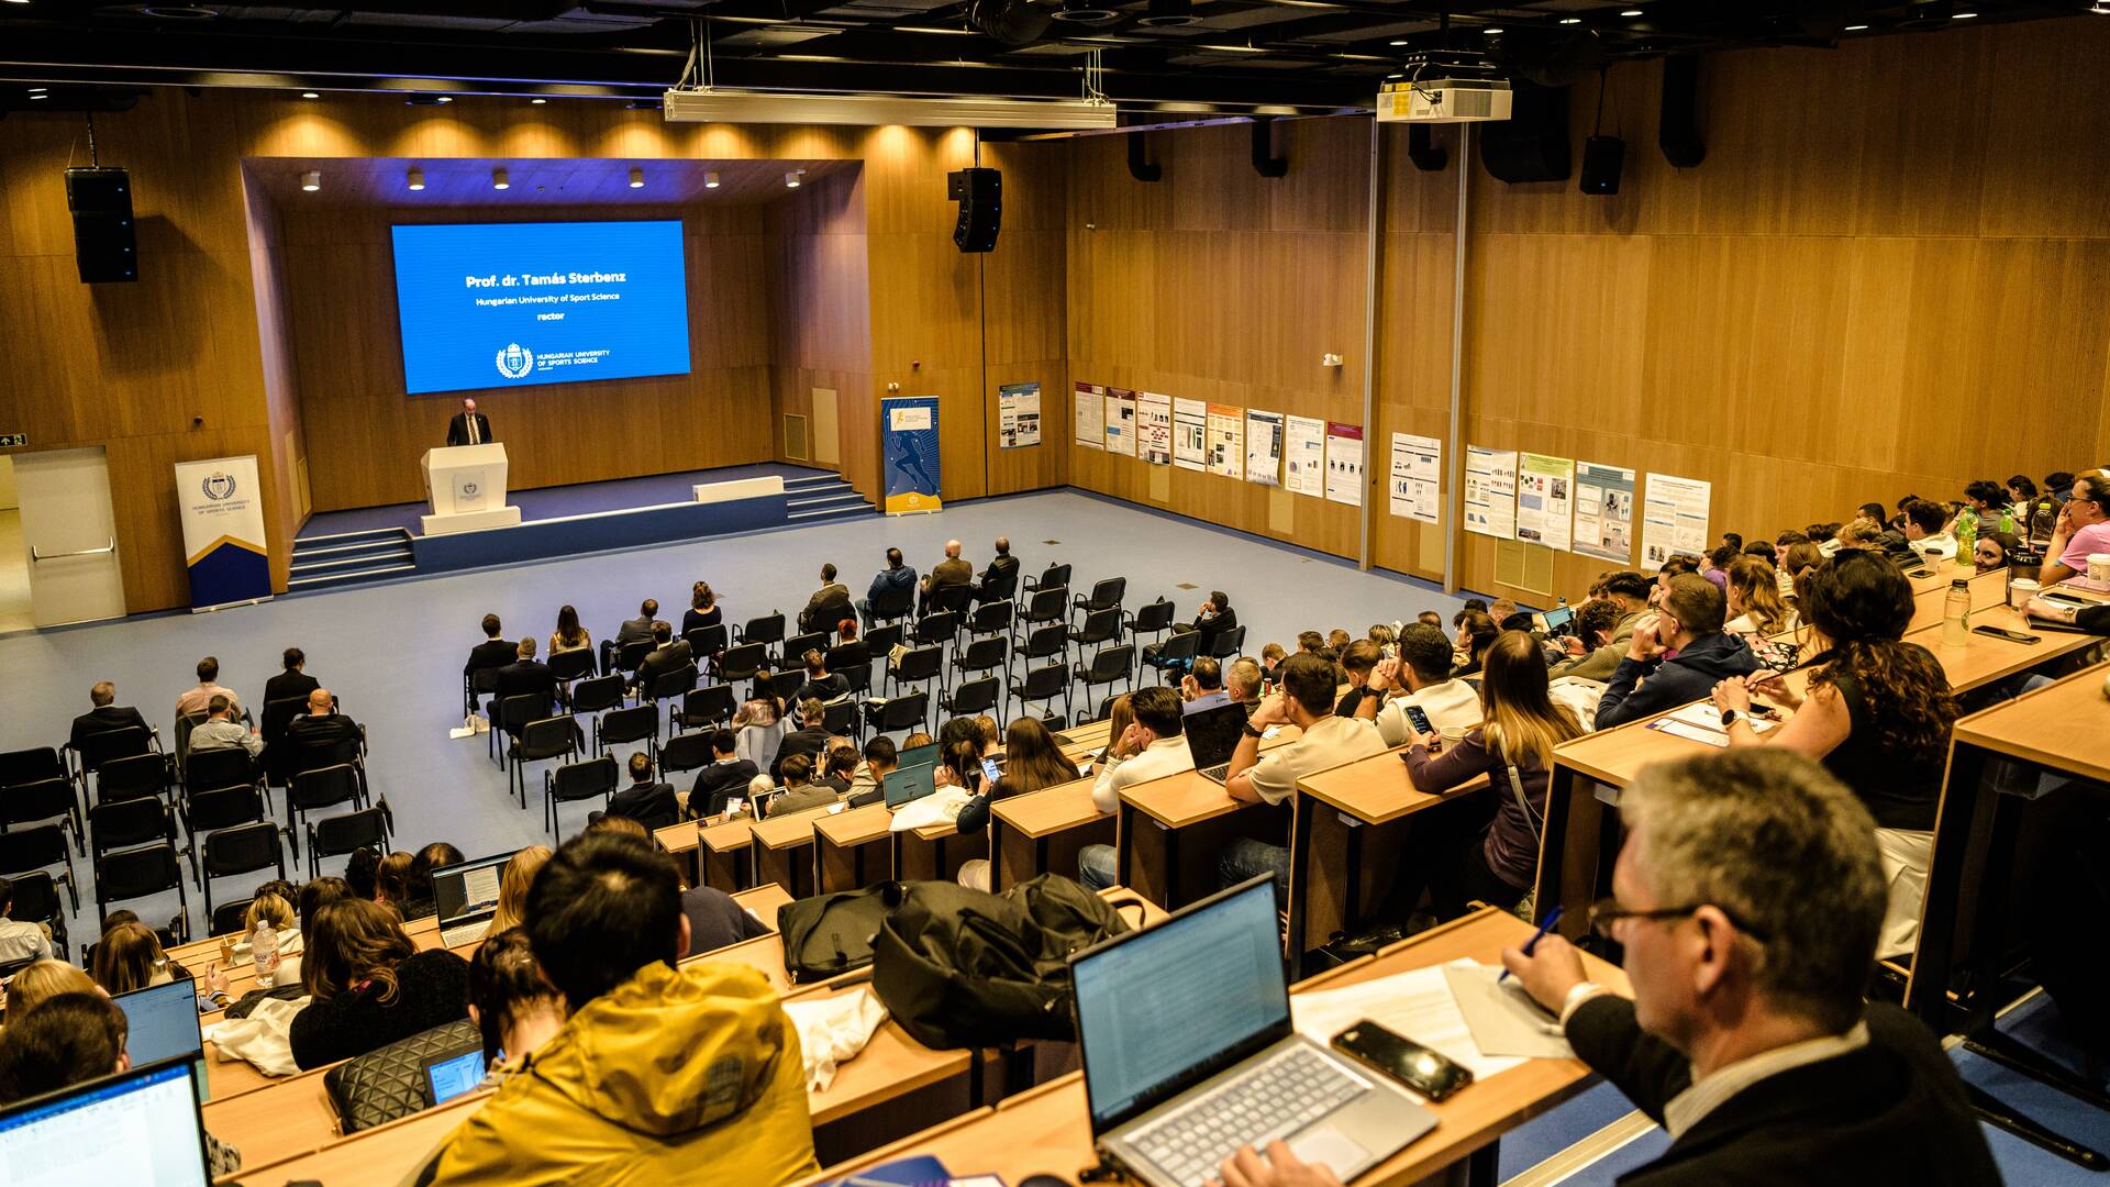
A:
<svg viewBox="0 0 2110 1187">
<path fill-rule="evenodd" d="M 1878 955 L 1918 944 L 1920 900 L 1933 860 L 1935 811 L 1948 767 L 1958 705 L 1941 661 L 1903 642 L 1912 621 L 1912 583 L 1897 566 L 1867 553 L 1840 553 L 1810 577 L 1812 651 L 1808 695 L 1785 680 L 1760 684 L 1796 710 L 1779 729 L 1756 733 L 1745 680 L 1722 680 L 1713 703 L 1730 714 L 1730 746 L 1785 746 L 1823 760 L 1876 817 L 1891 908 Z"/>
</svg>

